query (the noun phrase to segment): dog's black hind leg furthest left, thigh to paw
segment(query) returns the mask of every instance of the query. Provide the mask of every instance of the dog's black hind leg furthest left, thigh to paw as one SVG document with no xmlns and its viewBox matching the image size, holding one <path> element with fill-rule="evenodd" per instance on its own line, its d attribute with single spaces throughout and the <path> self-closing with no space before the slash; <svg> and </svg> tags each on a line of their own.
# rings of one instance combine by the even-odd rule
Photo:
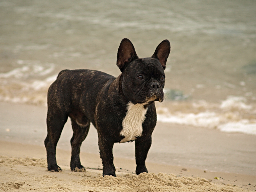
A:
<svg viewBox="0 0 256 192">
<path fill-rule="evenodd" d="M 56 162 L 56 145 L 60 139 L 60 134 L 64 127 L 64 124 L 68 120 L 68 115 L 64 114 L 60 110 L 50 110 L 47 112 L 47 137 L 44 140 L 44 145 L 47 153 L 47 164 L 49 171 L 58 172 L 61 168 Z"/>
</svg>

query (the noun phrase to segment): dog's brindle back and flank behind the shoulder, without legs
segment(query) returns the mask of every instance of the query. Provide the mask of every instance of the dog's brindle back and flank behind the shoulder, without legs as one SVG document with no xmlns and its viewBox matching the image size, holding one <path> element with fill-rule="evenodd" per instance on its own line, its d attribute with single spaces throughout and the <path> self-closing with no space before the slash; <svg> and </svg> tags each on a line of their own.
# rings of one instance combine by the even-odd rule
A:
<svg viewBox="0 0 256 192">
<path fill-rule="evenodd" d="M 62 70 L 48 90 L 48 108 L 57 107 L 68 114 L 77 109 L 90 111 L 86 116 L 92 121 L 97 94 L 104 87 L 102 85 L 114 79 L 114 76 L 96 70 Z"/>
</svg>

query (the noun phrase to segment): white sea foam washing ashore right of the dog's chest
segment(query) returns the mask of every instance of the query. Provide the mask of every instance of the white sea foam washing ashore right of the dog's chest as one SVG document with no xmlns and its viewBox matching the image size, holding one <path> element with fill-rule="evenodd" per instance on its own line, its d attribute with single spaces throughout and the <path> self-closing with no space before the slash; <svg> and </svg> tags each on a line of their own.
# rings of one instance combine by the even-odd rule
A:
<svg viewBox="0 0 256 192">
<path fill-rule="evenodd" d="M 255 113 L 252 111 L 253 107 L 244 102 L 246 102 L 244 97 L 228 96 L 219 106 L 216 106 L 218 107 L 218 110 L 215 108 L 217 112 L 210 111 L 210 108 L 207 109 L 206 102 L 203 102 L 206 111 L 199 113 L 171 113 L 168 108 L 157 107 L 157 121 L 256 135 L 256 119 L 244 119 L 239 116 L 239 111 Z M 193 106 L 198 106 L 198 104 L 195 103 Z"/>
</svg>

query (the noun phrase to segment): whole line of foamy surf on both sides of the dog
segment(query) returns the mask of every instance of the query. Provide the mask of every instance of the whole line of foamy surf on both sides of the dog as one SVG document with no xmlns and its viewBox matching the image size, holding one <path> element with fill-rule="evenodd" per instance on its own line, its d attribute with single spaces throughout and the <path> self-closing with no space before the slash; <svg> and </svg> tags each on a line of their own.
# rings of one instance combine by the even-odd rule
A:
<svg viewBox="0 0 256 192">
<path fill-rule="evenodd" d="M 16 68 L 0 73 L 0 101 L 46 106 L 47 90 L 56 80 L 56 72 L 54 63 L 17 60 Z M 159 122 L 256 134 L 256 108 L 246 104 L 245 97 L 228 96 L 216 104 L 188 100 L 189 96 L 177 91 L 165 90 L 165 94 L 173 100 L 167 107 L 156 104 Z"/>
</svg>

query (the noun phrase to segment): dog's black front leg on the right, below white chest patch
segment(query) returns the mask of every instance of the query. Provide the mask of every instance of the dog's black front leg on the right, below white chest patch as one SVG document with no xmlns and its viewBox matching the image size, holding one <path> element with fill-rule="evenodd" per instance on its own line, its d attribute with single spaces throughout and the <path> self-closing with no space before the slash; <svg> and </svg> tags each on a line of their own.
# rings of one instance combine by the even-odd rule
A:
<svg viewBox="0 0 256 192">
<path fill-rule="evenodd" d="M 143 172 L 148 172 L 146 168 L 146 158 L 148 155 L 148 150 L 151 146 L 151 135 L 138 137 L 135 140 L 135 159 L 136 159 L 136 174 L 139 175 Z"/>
</svg>

